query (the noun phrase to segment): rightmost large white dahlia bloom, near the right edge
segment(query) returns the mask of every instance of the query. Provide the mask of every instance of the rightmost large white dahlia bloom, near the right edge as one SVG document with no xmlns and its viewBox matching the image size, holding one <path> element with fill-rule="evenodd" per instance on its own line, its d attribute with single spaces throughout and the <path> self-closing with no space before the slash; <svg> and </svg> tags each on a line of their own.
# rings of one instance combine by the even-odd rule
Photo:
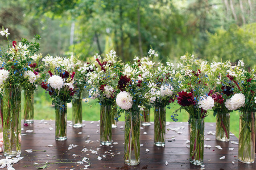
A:
<svg viewBox="0 0 256 170">
<path fill-rule="evenodd" d="M 234 94 L 230 99 L 227 99 L 225 102 L 226 108 L 229 111 L 239 109 L 245 105 L 245 95 L 243 94 Z"/>
</svg>

